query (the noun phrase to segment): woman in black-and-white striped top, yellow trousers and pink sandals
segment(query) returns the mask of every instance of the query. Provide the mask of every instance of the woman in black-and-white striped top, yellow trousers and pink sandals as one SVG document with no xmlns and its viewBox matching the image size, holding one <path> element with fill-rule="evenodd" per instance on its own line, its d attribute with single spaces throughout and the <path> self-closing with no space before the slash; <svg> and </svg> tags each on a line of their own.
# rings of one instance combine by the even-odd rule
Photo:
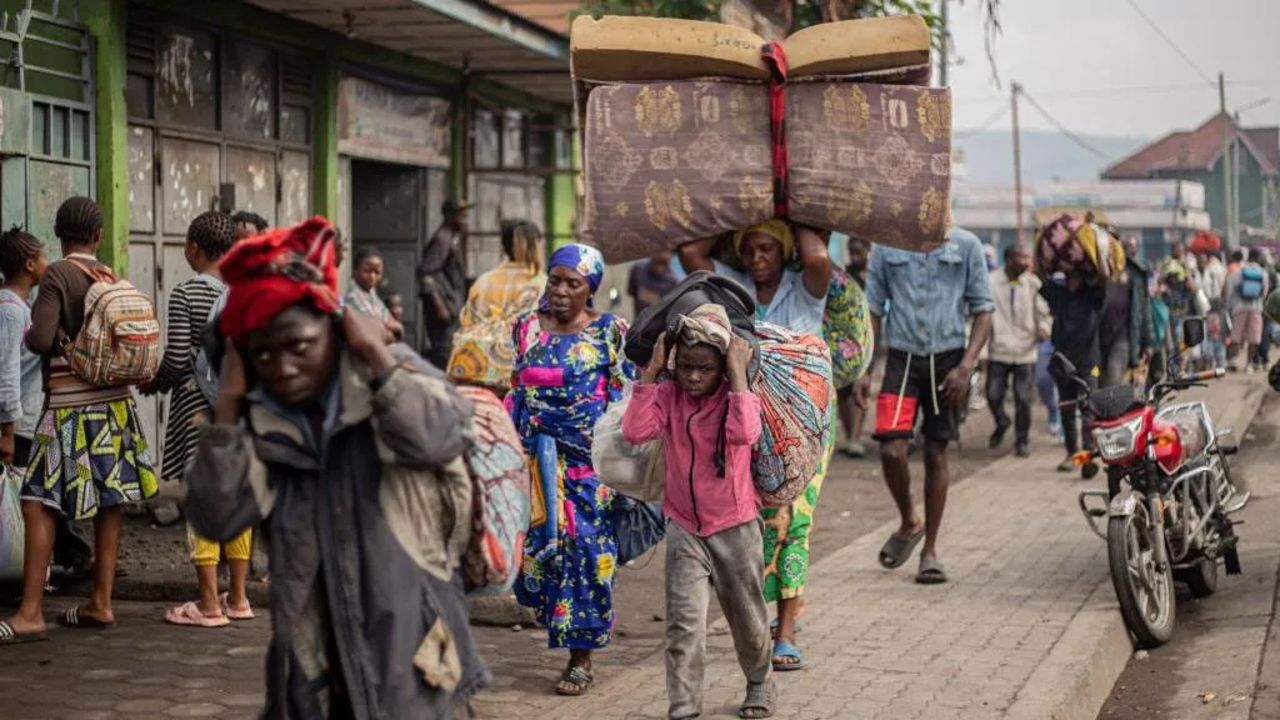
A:
<svg viewBox="0 0 1280 720">
<path fill-rule="evenodd" d="M 169 332 L 165 336 L 164 360 L 156 379 L 143 392 L 169 393 L 169 421 L 164 433 L 164 466 L 160 477 L 180 480 L 196 448 L 201 425 L 207 425 L 212 406 L 196 384 L 195 360 L 200 338 L 209 322 L 209 313 L 225 292 L 218 261 L 236 242 L 236 223 L 227 213 L 201 213 L 187 228 L 187 264 L 196 277 L 178 283 L 169 293 Z M 186 602 L 165 612 L 165 621 L 174 625 L 221 628 L 230 620 L 248 620 L 253 610 L 244 597 L 252 530 L 220 544 L 187 529 L 191 561 L 196 565 L 200 600 Z M 230 570 L 230 592 L 218 597 L 218 561 L 227 560 Z"/>
</svg>

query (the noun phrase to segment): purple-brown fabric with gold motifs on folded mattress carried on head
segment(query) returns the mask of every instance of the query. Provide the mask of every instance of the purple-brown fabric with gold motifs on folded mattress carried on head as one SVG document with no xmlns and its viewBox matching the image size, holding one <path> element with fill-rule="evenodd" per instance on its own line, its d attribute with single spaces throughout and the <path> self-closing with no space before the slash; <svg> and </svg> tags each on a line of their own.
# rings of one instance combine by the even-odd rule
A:
<svg viewBox="0 0 1280 720">
<path fill-rule="evenodd" d="M 942 245 L 951 191 L 945 88 L 787 86 L 792 220 L 905 250 Z M 620 83 L 584 110 L 585 237 L 611 263 L 746 228 L 774 214 L 769 90 L 762 83 Z"/>
</svg>

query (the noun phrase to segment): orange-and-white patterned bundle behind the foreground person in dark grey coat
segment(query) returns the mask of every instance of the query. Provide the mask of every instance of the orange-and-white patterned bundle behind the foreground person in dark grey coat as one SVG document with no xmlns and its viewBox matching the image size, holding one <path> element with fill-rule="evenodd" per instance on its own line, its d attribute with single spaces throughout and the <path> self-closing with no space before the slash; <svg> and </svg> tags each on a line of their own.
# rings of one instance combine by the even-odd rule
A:
<svg viewBox="0 0 1280 720">
<path fill-rule="evenodd" d="M 479 387 L 460 387 L 458 393 L 475 406 L 474 442 L 463 456 L 475 488 L 474 532 L 463 561 L 467 592 L 503 594 L 520 573 L 529 528 L 529 462 L 498 396 Z"/>
</svg>

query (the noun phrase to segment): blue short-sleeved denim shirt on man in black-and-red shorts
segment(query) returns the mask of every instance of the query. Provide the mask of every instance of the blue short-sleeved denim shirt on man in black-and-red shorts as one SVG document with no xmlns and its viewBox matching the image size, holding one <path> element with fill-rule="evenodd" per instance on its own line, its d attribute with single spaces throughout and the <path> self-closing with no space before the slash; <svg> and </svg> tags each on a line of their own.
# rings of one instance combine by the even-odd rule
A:
<svg viewBox="0 0 1280 720">
<path fill-rule="evenodd" d="M 932 252 L 877 245 L 867 302 L 883 322 L 881 337 L 890 350 L 934 355 L 963 348 L 969 315 L 995 309 L 982 241 L 951 228 L 946 245 Z"/>
</svg>

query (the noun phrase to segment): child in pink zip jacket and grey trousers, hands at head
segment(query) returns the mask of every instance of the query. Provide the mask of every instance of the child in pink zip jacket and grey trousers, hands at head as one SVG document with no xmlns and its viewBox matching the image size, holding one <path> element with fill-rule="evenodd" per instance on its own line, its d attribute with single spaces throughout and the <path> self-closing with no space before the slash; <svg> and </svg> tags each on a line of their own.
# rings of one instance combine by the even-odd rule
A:
<svg viewBox="0 0 1280 720">
<path fill-rule="evenodd" d="M 759 496 L 751 446 L 760 400 L 746 382 L 751 347 L 733 334 L 719 305 L 677 320 L 673 363 L 662 337 L 622 416 L 632 445 L 662 439 L 667 461 L 668 717 L 695 717 L 703 705 L 707 607 L 714 588 L 746 675 L 742 717 L 769 717 L 769 628 Z M 668 373 L 668 364 L 671 372 Z M 659 375 L 669 377 L 660 383 Z"/>
</svg>

